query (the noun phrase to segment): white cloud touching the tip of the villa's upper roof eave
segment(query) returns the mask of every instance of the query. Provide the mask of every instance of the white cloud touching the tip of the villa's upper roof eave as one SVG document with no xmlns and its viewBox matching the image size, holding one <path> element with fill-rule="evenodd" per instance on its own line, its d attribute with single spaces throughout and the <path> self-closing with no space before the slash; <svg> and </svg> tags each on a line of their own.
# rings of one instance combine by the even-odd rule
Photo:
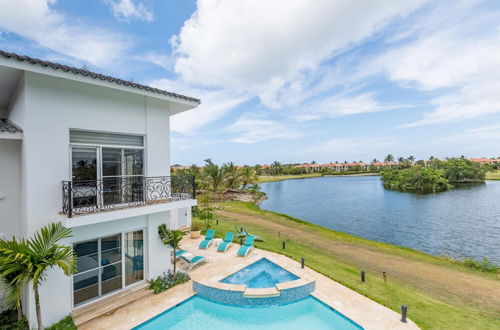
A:
<svg viewBox="0 0 500 330">
<path fill-rule="evenodd" d="M 153 80 L 151 86 L 201 99 L 194 110 L 185 111 L 171 118 L 170 128 L 174 132 L 190 135 L 204 125 L 220 119 L 229 110 L 250 99 L 250 95 L 230 90 L 206 90 L 169 79 Z"/>
</svg>

